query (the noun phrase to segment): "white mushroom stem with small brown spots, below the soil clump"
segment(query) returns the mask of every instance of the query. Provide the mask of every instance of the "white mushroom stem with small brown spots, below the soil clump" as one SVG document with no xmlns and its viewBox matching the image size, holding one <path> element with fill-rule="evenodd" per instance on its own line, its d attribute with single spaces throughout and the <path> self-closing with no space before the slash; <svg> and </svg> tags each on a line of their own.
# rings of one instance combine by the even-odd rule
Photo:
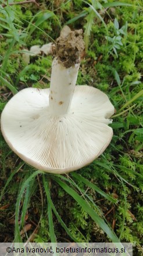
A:
<svg viewBox="0 0 143 256">
<path fill-rule="evenodd" d="M 80 63 L 66 68 L 58 57 L 52 63 L 49 109 L 53 116 L 65 115 L 69 112 L 76 86 Z"/>
</svg>

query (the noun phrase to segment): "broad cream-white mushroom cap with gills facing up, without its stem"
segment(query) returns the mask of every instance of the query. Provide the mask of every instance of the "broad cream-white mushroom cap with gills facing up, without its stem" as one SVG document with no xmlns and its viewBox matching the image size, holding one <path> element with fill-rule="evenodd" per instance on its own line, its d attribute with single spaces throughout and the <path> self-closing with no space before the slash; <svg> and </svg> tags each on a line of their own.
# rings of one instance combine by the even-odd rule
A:
<svg viewBox="0 0 143 256">
<path fill-rule="evenodd" d="M 101 155 L 112 139 L 114 107 L 93 87 L 77 85 L 69 113 L 52 116 L 49 89 L 26 88 L 13 96 L 1 116 L 9 147 L 35 168 L 74 171 Z"/>
</svg>

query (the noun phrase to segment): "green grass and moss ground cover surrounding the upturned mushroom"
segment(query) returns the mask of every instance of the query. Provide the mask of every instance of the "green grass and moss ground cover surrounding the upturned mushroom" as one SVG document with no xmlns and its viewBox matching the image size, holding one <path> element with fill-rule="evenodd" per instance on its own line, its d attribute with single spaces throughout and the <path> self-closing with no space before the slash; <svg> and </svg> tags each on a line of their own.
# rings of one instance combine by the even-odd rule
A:
<svg viewBox="0 0 143 256">
<path fill-rule="evenodd" d="M 1 241 L 130 241 L 141 253 L 142 1 L 67 1 L 0 6 L 0 110 L 22 88 L 49 87 L 51 56 L 23 53 L 55 41 L 60 29 L 83 29 L 86 53 L 77 84 L 108 94 L 116 109 L 113 139 L 87 167 L 69 175 L 38 171 L 0 137 Z M 0 2 L 1 5 L 1 2 Z M 31 75 L 32 74 L 32 75 Z M 22 237 L 20 231 L 31 224 Z M 34 234 L 33 234 L 34 233 Z"/>
</svg>

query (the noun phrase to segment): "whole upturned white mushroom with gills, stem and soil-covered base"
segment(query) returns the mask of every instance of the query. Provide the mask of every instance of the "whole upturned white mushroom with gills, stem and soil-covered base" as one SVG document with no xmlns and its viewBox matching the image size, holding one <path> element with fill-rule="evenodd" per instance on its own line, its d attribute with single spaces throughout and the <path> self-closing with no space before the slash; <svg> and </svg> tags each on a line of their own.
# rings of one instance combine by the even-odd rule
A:
<svg viewBox="0 0 143 256">
<path fill-rule="evenodd" d="M 26 88 L 6 104 L 2 134 L 24 161 L 62 174 L 84 167 L 101 155 L 112 139 L 114 113 L 99 89 L 77 85 L 81 30 L 64 30 L 56 40 L 49 89 Z"/>
</svg>

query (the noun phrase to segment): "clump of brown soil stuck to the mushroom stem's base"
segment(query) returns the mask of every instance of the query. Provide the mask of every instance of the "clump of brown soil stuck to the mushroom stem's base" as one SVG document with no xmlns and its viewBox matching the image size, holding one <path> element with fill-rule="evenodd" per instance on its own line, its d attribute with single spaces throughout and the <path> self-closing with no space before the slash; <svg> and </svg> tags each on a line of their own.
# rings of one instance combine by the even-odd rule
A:
<svg viewBox="0 0 143 256">
<path fill-rule="evenodd" d="M 56 40 L 55 53 L 62 64 L 66 67 L 72 67 L 80 63 L 80 56 L 84 50 L 83 30 L 71 31 L 69 27 L 63 27 L 60 37 Z"/>
</svg>

